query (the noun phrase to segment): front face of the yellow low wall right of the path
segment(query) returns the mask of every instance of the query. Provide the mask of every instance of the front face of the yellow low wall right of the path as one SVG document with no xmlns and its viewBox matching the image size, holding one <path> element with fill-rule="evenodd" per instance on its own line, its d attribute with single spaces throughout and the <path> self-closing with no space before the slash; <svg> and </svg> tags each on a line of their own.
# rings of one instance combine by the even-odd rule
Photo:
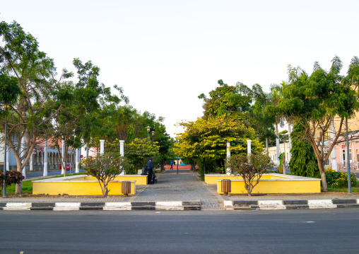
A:
<svg viewBox="0 0 359 254">
<path fill-rule="evenodd" d="M 230 193 L 246 193 L 244 181 L 231 181 Z M 217 182 L 217 191 L 221 191 L 221 183 Z M 252 193 L 319 193 L 320 179 L 318 180 L 259 180 Z"/>
</svg>

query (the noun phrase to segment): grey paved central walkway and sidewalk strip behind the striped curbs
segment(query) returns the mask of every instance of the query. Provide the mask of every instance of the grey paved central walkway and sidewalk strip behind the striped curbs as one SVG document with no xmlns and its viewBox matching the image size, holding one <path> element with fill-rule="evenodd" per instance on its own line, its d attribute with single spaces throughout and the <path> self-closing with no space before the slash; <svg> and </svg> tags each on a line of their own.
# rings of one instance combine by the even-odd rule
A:
<svg viewBox="0 0 359 254">
<path fill-rule="evenodd" d="M 158 183 L 154 185 L 139 185 L 136 186 L 136 194 L 129 197 L 73 197 L 73 196 L 49 196 L 49 197 L 0 197 L 0 207 L 6 207 L 6 203 L 28 203 L 28 206 L 32 206 L 31 203 L 40 206 L 40 203 L 48 203 L 50 207 L 54 207 L 55 203 L 59 202 L 76 202 L 78 207 L 95 207 L 98 209 L 100 204 L 113 203 L 118 204 L 118 207 L 124 207 L 124 205 L 134 204 L 144 209 L 156 209 L 158 204 L 171 203 L 171 207 L 175 202 L 182 202 L 183 207 L 189 206 L 191 202 L 197 202 L 200 204 L 202 210 L 221 210 L 224 209 L 224 202 L 238 203 L 238 202 L 266 202 L 265 200 L 275 200 L 293 202 L 293 200 L 301 200 L 298 203 L 302 203 L 305 200 L 348 200 L 353 203 L 353 200 L 359 200 L 358 192 L 353 192 L 353 195 L 341 194 L 341 193 L 320 193 L 320 194 L 300 194 L 300 195 L 254 195 L 249 197 L 247 195 L 231 195 L 223 196 L 217 193 L 216 185 L 207 185 L 199 180 L 198 173 L 194 173 L 189 170 L 167 170 L 163 173 L 156 174 Z M 111 193 L 111 192 L 110 192 Z M 285 202 L 285 203 L 288 203 Z M 83 203 L 81 205 L 81 203 Z M 346 202 L 343 201 L 345 204 Z M 98 205 L 96 205 L 98 204 Z M 294 204 L 294 203 L 293 203 Z M 331 202 L 334 204 L 334 202 Z M 358 202 L 359 204 L 359 202 Z M 34 206 L 34 205 L 33 205 Z M 130 208 L 129 208 L 130 207 Z M 125 207 L 131 209 L 131 205 Z M 137 207 L 137 208 L 139 208 Z M 124 208 L 124 209 L 125 209 Z M 176 208 L 176 207 L 175 207 Z M 178 208 L 178 207 L 177 207 Z M 198 208 L 198 205 L 197 205 Z M 334 208 L 334 207 L 331 207 Z M 90 209 L 90 208 L 88 208 Z"/>
</svg>

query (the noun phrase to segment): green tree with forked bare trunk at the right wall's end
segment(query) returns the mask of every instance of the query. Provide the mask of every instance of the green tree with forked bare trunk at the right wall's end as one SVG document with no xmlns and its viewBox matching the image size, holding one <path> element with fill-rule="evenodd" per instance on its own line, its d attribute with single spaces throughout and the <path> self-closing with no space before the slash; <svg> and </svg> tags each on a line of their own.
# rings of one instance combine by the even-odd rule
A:
<svg viewBox="0 0 359 254">
<path fill-rule="evenodd" d="M 281 114 L 293 117 L 305 129 L 305 135 L 317 158 L 324 192 L 328 190 L 324 164 L 341 135 L 345 118 L 352 117 L 359 107 L 358 76 L 353 74 L 357 73 L 358 59 L 352 59 L 346 77 L 340 75 L 342 63 L 339 57 L 334 57 L 331 62 L 329 71 L 325 71 L 315 62 L 310 76 L 299 67 L 289 66 L 289 80 L 282 85 L 283 97 L 278 103 Z M 326 154 L 324 138 L 334 117 L 340 119 L 339 128 Z"/>
</svg>

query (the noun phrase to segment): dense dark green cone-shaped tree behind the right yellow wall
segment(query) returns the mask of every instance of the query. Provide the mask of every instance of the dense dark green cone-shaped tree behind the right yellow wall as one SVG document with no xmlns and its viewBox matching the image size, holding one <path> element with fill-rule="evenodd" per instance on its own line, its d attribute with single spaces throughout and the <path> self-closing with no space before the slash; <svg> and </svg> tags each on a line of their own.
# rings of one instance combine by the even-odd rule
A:
<svg viewBox="0 0 359 254">
<path fill-rule="evenodd" d="M 289 162 L 290 173 L 310 178 L 320 178 L 317 158 L 312 145 L 305 137 L 304 127 L 299 123 L 295 123 L 290 136 L 292 138 L 292 149 L 290 149 L 292 158 Z"/>
</svg>

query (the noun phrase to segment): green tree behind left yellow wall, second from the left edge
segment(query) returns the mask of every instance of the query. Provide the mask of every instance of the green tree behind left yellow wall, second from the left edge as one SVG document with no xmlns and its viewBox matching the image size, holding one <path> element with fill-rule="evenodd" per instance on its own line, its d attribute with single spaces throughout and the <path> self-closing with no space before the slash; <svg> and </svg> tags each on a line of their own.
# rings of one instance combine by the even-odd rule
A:
<svg viewBox="0 0 359 254">
<path fill-rule="evenodd" d="M 121 102 L 121 98 L 112 95 L 109 87 L 98 81 L 100 69 L 92 62 L 83 64 L 80 59 L 73 59 L 73 64 L 77 69 L 78 82 L 58 83 L 54 92 L 57 108 L 61 105 L 59 114 L 54 117 L 53 132 L 51 134 L 55 146 L 59 151 L 63 168 L 66 168 L 66 158 L 62 158 L 59 144 L 64 140 L 64 153 L 67 154 L 69 148 L 81 148 L 83 137 L 88 135 L 88 117 L 102 110 L 100 104 Z M 117 86 L 115 86 L 117 88 Z M 118 89 L 122 92 L 122 88 Z M 123 96 L 123 93 L 120 94 Z M 66 176 L 66 171 L 64 171 Z"/>
</svg>

